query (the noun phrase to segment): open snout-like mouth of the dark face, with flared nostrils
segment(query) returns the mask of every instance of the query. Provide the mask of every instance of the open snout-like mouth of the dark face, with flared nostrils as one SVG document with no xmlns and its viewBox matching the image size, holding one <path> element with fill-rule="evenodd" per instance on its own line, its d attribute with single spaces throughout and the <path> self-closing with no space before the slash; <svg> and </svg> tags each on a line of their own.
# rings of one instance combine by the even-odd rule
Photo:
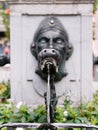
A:
<svg viewBox="0 0 98 130">
<path fill-rule="evenodd" d="M 39 67 L 45 74 L 55 74 L 58 72 L 60 55 L 55 49 L 43 49 L 39 55 Z"/>
</svg>

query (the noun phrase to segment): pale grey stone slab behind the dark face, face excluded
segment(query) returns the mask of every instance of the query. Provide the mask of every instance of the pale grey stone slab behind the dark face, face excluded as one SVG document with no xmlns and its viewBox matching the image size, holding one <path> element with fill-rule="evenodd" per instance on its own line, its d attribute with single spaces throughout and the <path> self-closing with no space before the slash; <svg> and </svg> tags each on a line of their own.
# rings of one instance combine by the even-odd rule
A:
<svg viewBox="0 0 98 130">
<path fill-rule="evenodd" d="M 68 76 L 55 83 L 59 104 L 63 103 L 65 95 L 68 94 L 75 103 L 91 100 L 94 0 L 48 1 L 51 4 L 45 0 L 41 4 L 40 2 L 42 0 L 10 1 L 12 98 L 15 102 L 44 104 L 43 95 L 47 83 L 35 73 L 37 61 L 30 52 L 30 44 L 41 20 L 54 15 L 63 23 L 74 47 L 72 57 L 66 64 Z"/>
</svg>

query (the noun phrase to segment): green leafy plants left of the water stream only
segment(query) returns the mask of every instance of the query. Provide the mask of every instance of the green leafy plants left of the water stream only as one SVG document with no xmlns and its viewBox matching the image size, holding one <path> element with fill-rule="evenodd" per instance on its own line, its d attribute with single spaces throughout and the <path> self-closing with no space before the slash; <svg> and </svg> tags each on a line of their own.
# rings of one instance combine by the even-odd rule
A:
<svg viewBox="0 0 98 130">
<path fill-rule="evenodd" d="M 27 122 L 46 122 L 44 106 L 38 106 L 37 109 L 32 109 L 24 104 L 19 107 L 13 103 L 0 104 L 0 124 L 12 123 L 27 123 Z"/>
</svg>

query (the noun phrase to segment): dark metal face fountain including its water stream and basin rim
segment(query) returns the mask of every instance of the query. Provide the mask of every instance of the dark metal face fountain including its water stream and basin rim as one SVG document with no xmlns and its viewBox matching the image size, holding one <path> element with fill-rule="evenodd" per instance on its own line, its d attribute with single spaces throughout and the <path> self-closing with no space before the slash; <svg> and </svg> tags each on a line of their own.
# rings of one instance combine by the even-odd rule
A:
<svg viewBox="0 0 98 130">
<path fill-rule="evenodd" d="M 39 130 L 57 130 L 59 128 L 68 128 L 68 130 L 73 130 L 73 128 L 98 129 L 98 126 L 90 124 L 55 123 L 58 101 L 55 82 L 60 82 L 62 78 L 67 76 L 65 63 L 73 52 L 73 46 L 69 43 L 67 31 L 57 17 L 48 16 L 41 21 L 34 34 L 30 50 L 38 63 L 35 73 L 47 83 L 47 89 L 44 93 L 47 122 L 8 123 L 0 125 L 0 130 L 3 127 L 7 127 L 8 130 L 17 127 L 38 128 Z"/>
</svg>

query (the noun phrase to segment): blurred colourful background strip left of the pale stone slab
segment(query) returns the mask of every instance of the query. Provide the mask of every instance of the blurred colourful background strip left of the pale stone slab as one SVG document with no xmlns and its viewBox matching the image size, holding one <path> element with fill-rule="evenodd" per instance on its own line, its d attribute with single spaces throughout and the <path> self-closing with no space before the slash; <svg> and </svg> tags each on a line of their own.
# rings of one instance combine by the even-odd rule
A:
<svg viewBox="0 0 98 130">
<path fill-rule="evenodd" d="M 0 66 L 10 63 L 10 9 L 0 0 Z"/>
</svg>

